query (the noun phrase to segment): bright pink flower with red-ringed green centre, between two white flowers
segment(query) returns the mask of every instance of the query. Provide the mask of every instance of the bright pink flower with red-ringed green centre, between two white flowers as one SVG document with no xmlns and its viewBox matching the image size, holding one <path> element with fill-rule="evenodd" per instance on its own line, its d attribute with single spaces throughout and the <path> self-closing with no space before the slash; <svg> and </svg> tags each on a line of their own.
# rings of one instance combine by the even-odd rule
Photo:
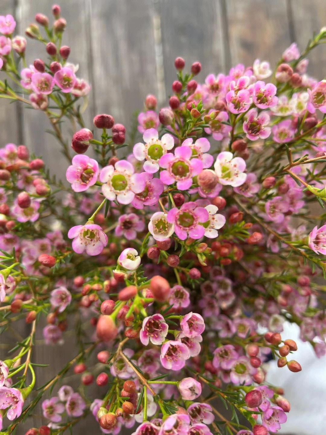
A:
<svg viewBox="0 0 326 435">
<path fill-rule="evenodd" d="M 167 220 L 175 225 L 175 234 L 180 240 L 185 240 L 187 236 L 200 239 L 205 233 L 202 224 L 208 221 L 208 212 L 195 202 L 187 202 L 180 209 L 174 207 L 168 211 Z"/>
</svg>

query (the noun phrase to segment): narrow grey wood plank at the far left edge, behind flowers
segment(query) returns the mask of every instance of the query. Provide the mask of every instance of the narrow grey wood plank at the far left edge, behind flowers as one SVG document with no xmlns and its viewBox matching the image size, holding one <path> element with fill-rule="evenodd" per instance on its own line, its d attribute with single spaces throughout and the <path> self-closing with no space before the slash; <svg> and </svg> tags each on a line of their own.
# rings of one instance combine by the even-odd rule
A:
<svg viewBox="0 0 326 435">
<path fill-rule="evenodd" d="M 2 0 L 0 3 L 0 13 L 2 15 L 15 15 L 14 0 Z M 17 20 L 16 20 L 17 21 Z M 4 80 L 6 75 L 0 71 L 0 80 Z M 0 99 L 0 147 L 11 142 L 17 144 L 19 141 L 19 124 L 16 122 L 17 107 L 16 103 L 10 104 L 9 99 Z"/>
</svg>

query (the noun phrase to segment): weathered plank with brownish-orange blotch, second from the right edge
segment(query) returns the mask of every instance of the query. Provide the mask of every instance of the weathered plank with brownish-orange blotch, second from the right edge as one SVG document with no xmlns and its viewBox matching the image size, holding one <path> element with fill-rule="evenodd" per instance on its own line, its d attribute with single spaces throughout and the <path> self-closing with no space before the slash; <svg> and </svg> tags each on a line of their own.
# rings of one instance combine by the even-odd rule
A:
<svg viewBox="0 0 326 435">
<path fill-rule="evenodd" d="M 232 64 L 260 58 L 273 67 L 290 45 L 286 0 L 227 0 L 226 9 Z"/>
</svg>

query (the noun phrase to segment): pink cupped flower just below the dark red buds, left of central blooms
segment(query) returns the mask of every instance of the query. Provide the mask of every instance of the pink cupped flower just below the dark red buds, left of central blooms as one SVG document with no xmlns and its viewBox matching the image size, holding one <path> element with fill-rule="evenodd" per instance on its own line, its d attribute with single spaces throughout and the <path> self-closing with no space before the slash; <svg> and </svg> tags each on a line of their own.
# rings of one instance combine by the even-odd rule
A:
<svg viewBox="0 0 326 435">
<path fill-rule="evenodd" d="M 93 186 L 99 176 L 99 164 L 84 154 L 72 157 L 72 165 L 66 171 L 66 177 L 75 192 L 86 191 Z"/>
</svg>

